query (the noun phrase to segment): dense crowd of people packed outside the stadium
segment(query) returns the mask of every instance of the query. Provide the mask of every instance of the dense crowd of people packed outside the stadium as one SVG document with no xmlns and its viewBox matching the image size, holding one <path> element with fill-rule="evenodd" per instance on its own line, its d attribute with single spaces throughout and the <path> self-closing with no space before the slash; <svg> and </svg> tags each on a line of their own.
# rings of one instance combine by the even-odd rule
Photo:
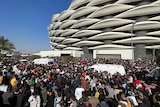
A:
<svg viewBox="0 0 160 107">
<path fill-rule="evenodd" d="M 160 107 L 160 82 L 146 77 L 152 60 L 75 58 L 36 65 L 0 58 L 0 107 Z M 125 75 L 88 69 L 91 65 L 123 65 Z"/>
</svg>

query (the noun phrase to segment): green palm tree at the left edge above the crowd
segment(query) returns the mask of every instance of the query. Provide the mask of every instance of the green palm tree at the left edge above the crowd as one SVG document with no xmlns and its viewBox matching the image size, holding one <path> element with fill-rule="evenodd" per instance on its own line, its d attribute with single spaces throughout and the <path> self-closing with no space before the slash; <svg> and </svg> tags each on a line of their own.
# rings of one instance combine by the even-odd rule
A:
<svg viewBox="0 0 160 107">
<path fill-rule="evenodd" d="M 3 36 L 0 36 L 0 52 L 1 50 L 7 50 L 11 52 L 13 49 L 15 49 L 14 44 Z"/>
</svg>

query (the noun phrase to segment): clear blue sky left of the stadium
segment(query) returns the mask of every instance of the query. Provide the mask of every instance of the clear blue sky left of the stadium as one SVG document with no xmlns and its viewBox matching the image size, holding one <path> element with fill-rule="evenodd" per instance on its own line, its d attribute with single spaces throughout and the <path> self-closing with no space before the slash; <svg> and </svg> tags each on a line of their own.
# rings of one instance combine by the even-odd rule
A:
<svg viewBox="0 0 160 107">
<path fill-rule="evenodd" d="M 51 50 L 47 26 L 52 15 L 68 9 L 72 0 L 0 0 L 0 35 L 16 50 Z"/>
</svg>

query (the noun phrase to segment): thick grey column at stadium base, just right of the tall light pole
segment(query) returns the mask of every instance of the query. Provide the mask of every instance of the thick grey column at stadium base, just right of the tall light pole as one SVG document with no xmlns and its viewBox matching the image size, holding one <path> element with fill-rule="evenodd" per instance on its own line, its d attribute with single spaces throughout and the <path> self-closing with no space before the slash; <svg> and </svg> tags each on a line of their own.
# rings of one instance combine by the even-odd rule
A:
<svg viewBox="0 0 160 107">
<path fill-rule="evenodd" d="M 146 56 L 145 44 L 136 44 L 134 49 L 135 59 Z"/>
</svg>

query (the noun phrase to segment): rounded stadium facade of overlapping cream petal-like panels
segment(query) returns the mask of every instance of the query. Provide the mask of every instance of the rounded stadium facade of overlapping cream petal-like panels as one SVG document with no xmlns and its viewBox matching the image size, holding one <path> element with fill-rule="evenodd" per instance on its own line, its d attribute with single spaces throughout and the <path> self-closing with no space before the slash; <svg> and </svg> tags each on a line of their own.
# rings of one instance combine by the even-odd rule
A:
<svg viewBox="0 0 160 107">
<path fill-rule="evenodd" d="M 73 0 L 53 15 L 48 32 L 52 50 L 143 57 L 159 48 L 160 0 Z"/>
</svg>

